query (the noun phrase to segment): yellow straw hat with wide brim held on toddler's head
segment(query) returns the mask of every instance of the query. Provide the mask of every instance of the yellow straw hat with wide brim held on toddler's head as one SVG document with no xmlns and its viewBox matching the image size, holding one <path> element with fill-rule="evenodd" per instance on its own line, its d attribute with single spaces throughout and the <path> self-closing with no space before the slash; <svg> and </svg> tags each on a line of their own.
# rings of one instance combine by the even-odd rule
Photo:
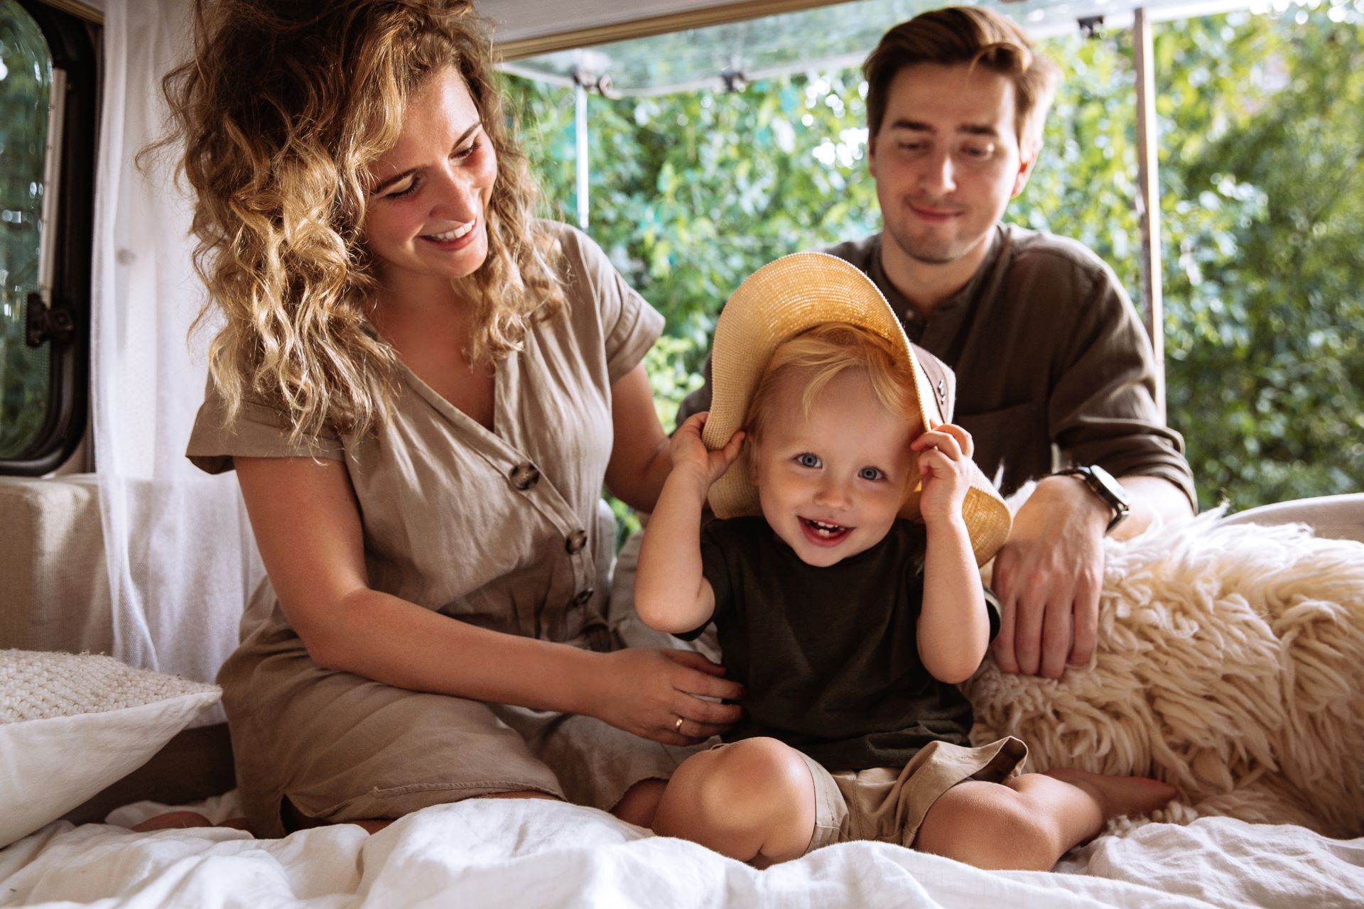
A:
<svg viewBox="0 0 1364 909">
<path fill-rule="evenodd" d="M 772 353 L 802 331 L 831 322 L 858 326 L 889 341 L 913 364 L 923 425 L 947 422 L 904 327 L 872 279 L 837 256 L 797 252 L 749 275 L 720 312 L 711 346 L 711 416 L 701 435 L 707 447 L 724 447 L 743 425 Z M 975 561 L 985 564 L 1009 536 L 1009 510 L 974 463 L 970 480 L 962 518 Z M 902 518 L 922 521 L 921 492 L 922 484 L 915 484 L 900 508 Z M 719 518 L 762 514 L 757 487 L 749 481 L 747 448 L 711 487 L 709 500 Z"/>
</svg>

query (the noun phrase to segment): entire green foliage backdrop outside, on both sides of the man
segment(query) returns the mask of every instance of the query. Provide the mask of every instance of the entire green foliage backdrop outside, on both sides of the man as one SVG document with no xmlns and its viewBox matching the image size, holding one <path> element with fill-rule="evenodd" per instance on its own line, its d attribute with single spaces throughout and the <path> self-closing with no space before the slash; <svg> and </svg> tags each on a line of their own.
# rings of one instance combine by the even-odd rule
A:
<svg viewBox="0 0 1364 909">
<path fill-rule="evenodd" d="M 1348 0 L 1157 29 L 1170 424 L 1203 507 L 1364 488 L 1364 25 Z M 1082 240 L 1139 296 L 1131 34 L 1057 38 L 1065 80 L 1009 218 Z M 546 195 L 573 210 L 573 99 L 510 79 Z M 700 383 L 730 290 L 880 224 L 855 70 L 742 94 L 591 98 L 591 226 L 667 318 L 659 412 Z"/>
</svg>

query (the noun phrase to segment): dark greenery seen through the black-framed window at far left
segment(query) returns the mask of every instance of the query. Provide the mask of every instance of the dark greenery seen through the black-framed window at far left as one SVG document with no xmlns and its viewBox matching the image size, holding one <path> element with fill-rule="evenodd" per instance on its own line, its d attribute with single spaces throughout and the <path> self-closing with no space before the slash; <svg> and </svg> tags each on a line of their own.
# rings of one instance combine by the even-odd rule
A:
<svg viewBox="0 0 1364 909">
<path fill-rule="evenodd" d="M 0 0 L 0 457 L 23 451 L 48 406 L 46 350 L 25 346 L 23 315 L 38 283 L 50 82 L 37 23 Z"/>
</svg>

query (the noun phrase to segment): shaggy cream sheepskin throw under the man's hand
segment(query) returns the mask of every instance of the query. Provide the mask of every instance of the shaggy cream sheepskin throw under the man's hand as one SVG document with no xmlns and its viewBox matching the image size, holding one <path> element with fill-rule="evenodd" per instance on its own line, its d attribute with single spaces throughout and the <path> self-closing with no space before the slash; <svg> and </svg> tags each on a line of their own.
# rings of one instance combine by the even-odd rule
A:
<svg viewBox="0 0 1364 909">
<path fill-rule="evenodd" d="M 1364 544 L 1219 515 L 1106 541 L 1088 668 L 1052 680 L 986 660 L 964 685 L 971 739 L 1023 739 L 1030 770 L 1174 784 L 1158 820 L 1361 835 Z"/>
</svg>

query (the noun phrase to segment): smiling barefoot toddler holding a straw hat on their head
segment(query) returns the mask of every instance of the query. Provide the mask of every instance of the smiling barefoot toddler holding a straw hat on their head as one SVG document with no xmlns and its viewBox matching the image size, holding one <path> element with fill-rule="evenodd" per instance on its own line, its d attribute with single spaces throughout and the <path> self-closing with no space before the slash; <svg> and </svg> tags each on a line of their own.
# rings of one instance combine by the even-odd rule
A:
<svg viewBox="0 0 1364 909">
<path fill-rule="evenodd" d="M 712 369 L 712 410 L 672 440 L 636 608 L 683 638 L 715 621 L 743 717 L 678 769 L 655 831 L 757 865 L 883 839 L 1049 869 L 1173 797 L 1020 773 L 1013 737 L 970 747 L 956 685 L 998 630 L 978 564 L 1008 511 L 861 271 L 822 253 L 760 268 L 722 313 Z M 708 496 L 720 519 L 702 531 Z"/>
</svg>

